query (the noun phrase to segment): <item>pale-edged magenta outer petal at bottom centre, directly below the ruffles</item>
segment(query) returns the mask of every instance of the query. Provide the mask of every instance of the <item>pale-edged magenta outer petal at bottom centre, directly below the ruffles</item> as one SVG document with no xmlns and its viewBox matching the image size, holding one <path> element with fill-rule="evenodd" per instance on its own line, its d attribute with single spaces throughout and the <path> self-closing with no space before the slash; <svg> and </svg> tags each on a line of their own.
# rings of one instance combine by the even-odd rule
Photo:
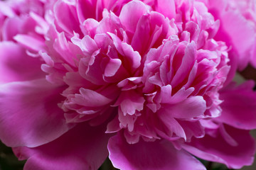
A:
<svg viewBox="0 0 256 170">
<path fill-rule="evenodd" d="M 206 169 L 201 162 L 183 149 L 177 150 L 167 141 L 144 142 L 129 145 L 124 137 L 110 138 L 108 149 L 114 167 L 125 170 L 200 170 Z"/>
</svg>

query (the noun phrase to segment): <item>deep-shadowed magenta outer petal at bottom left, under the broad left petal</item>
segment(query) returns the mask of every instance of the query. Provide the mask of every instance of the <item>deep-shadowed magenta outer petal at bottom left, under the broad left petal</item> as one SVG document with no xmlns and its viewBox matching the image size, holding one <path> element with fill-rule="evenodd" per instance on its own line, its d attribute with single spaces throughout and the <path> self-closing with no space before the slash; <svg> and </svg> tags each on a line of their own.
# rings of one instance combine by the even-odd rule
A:
<svg viewBox="0 0 256 170">
<path fill-rule="evenodd" d="M 98 169 L 107 158 L 105 126 L 77 125 L 57 140 L 40 147 L 14 148 L 19 159 L 28 159 L 24 170 Z"/>
</svg>

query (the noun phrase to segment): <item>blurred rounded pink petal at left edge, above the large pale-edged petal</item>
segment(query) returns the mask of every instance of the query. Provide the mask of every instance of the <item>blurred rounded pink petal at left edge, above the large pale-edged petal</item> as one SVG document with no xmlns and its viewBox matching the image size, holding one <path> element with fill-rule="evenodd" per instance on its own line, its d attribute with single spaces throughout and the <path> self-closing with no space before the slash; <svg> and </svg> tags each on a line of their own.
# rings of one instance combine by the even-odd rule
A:
<svg viewBox="0 0 256 170">
<path fill-rule="evenodd" d="M 0 42 L 0 84 L 43 77 L 41 61 L 14 42 Z"/>
</svg>

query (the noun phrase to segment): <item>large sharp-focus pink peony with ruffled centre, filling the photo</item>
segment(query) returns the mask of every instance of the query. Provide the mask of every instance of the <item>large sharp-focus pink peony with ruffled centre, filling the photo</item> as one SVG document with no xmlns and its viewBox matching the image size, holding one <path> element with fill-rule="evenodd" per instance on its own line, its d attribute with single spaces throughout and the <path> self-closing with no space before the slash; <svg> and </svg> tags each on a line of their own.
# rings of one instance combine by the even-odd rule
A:
<svg viewBox="0 0 256 170">
<path fill-rule="evenodd" d="M 29 62 L 37 77 L 0 85 L 0 139 L 24 169 L 98 169 L 108 154 L 125 170 L 206 169 L 192 155 L 252 164 L 254 83 L 227 83 L 230 52 L 205 4 L 58 0 L 44 10 L 13 36 L 46 77 Z"/>
</svg>

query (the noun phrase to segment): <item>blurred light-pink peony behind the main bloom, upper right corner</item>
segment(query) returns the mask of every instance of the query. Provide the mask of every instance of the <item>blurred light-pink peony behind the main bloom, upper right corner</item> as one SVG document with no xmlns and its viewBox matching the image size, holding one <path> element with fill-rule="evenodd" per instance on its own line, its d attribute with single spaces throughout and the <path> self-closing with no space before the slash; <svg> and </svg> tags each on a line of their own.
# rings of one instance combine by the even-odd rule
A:
<svg viewBox="0 0 256 170">
<path fill-rule="evenodd" d="M 256 1 L 209 0 L 205 4 L 215 19 L 220 20 L 215 38 L 230 46 L 229 56 L 234 67 L 241 71 L 249 62 L 255 67 Z"/>
</svg>

